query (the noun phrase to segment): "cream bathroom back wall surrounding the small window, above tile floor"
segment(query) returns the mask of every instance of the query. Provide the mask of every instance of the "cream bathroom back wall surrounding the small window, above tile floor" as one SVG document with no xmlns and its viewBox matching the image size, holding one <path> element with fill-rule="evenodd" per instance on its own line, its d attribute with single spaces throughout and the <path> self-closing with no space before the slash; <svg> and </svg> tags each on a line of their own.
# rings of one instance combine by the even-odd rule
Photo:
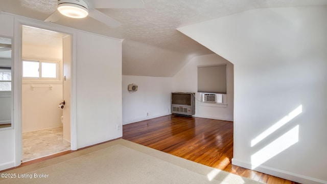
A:
<svg viewBox="0 0 327 184">
<path fill-rule="evenodd" d="M 23 37 L 24 34 L 28 33 L 23 33 Z M 59 81 L 23 80 L 22 132 L 62 126 L 62 110 L 58 108 L 62 102 L 62 48 L 22 43 L 22 58 L 60 61 Z M 31 85 L 51 85 L 52 89 L 49 87 L 32 89 Z"/>
</svg>

